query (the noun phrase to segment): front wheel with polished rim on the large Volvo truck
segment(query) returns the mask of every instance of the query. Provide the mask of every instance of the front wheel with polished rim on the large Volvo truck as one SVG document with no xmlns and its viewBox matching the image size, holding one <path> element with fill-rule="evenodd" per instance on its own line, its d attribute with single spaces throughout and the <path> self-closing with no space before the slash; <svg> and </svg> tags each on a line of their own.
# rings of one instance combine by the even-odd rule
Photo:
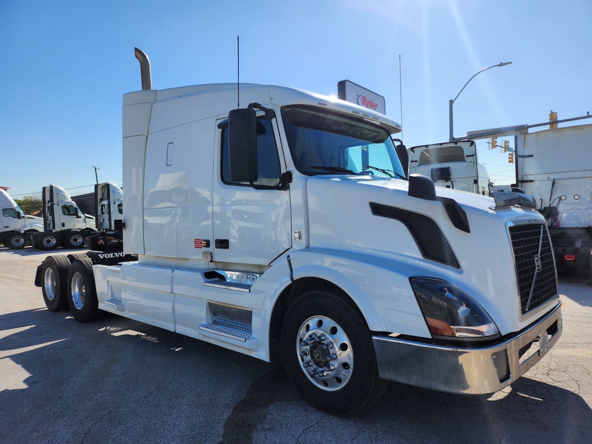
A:
<svg viewBox="0 0 592 444">
<path fill-rule="evenodd" d="M 370 407 L 387 388 L 366 324 L 333 292 L 311 291 L 295 301 L 281 342 L 292 383 L 320 410 L 348 416 Z"/>
</svg>

